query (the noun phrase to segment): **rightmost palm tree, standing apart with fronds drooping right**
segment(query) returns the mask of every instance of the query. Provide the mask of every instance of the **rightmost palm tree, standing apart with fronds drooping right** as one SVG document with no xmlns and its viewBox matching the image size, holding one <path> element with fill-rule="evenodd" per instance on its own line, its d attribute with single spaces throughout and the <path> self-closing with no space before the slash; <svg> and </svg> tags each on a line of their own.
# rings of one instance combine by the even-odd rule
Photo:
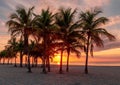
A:
<svg viewBox="0 0 120 85">
<path fill-rule="evenodd" d="M 102 13 L 100 9 L 92 9 L 86 12 L 80 13 L 80 21 L 83 25 L 83 34 L 86 37 L 85 42 L 85 74 L 88 74 L 88 57 L 89 52 L 93 56 L 93 48 L 96 45 L 97 47 L 103 47 L 103 37 L 107 37 L 109 40 L 114 40 L 115 37 L 107 32 L 105 28 L 102 28 L 101 25 L 108 22 L 106 17 L 99 17 L 98 15 Z"/>
</svg>

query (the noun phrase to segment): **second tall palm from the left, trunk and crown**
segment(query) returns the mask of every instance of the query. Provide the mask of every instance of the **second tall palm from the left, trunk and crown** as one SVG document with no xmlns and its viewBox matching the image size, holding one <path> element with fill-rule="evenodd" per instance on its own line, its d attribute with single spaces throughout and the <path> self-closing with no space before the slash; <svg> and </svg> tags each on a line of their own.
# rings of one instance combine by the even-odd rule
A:
<svg viewBox="0 0 120 85">
<path fill-rule="evenodd" d="M 47 73 L 46 71 L 46 60 L 49 58 L 48 56 L 48 47 L 49 43 L 48 41 L 50 40 L 52 30 L 53 30 L 53 14 L 47 10 L 42 10 L 40 15 L 35 15 L 37 17 L 36 20 L 36 26 L 38 27 L 39 31 L 39 37 L 42 37 L 42 43 L 43 43 L 43 73 Z"/>
</svg>

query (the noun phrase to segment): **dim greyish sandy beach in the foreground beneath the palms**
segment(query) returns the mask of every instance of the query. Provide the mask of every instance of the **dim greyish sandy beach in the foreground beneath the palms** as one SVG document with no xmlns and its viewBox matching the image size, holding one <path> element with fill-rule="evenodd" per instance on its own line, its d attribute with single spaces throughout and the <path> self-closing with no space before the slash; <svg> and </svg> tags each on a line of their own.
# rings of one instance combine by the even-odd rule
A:
<svg viewBox="0 0 120 85">
<path fill-rule="evenodd" d="M 70 72 L 58 73 L 58 66 L 42 74 L 41 68 L 15 68 L 12 65 L 0 65 L 0 85 L 120 85 L 120 67 L 90 66 L 89 74 L 84 74 L 83 66 L 70 66 Z M 64 68 L 65 70 L 65 68 Z"/>
</svg>

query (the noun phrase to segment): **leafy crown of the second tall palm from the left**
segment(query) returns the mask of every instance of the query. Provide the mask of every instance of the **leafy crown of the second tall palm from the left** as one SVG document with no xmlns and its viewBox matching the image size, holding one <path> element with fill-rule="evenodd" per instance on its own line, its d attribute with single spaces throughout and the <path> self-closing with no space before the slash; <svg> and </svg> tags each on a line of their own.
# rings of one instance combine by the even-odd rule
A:
<svg viewBox="0 0 120 85">
<path fill-rule="evenodd" d="M 37 28 L 35 33 L 35 39 L 37 42 L 46 36 L 47 38 L 53 37 L 55 33 L 55 26 L 54 26 L 54 14 L 47 10 L 42 9 L 40 15 L 34 14 L 36 17 L 35 27 Z"/>
</svg>

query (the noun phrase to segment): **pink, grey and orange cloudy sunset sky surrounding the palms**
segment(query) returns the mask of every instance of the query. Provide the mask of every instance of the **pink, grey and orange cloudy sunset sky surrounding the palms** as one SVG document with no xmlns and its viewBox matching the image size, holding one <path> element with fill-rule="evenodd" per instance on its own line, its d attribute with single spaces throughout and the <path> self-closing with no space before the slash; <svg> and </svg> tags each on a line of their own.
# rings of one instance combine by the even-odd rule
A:
<svg viewBox="0 0 120 85">
<path fill-rule="evenodd" d="M 109 42 L 104 41 L 104 48 L 95 48 L 94 58 L 90 57 L 90 64 L 100 65 L 120 65 L 120 0 L 0 0 L 0 50 L 4 48 L 10 39 L 10 33 L 5 25 L 9 20 L 11 13 L 14 13 L 16 7 L 21 5 L 25 8 L 35 6 L 34 12 L 40 13 L 41 9 L 50 8 L 52 12 L 56 12 L 60 7 L 77 8 L 77 13 L 81 10 L 85 11 L 90 8 L 100 7 L 103 10 L 101 16 L 109 19 L 109 22 L 103 27 L 108 32 L 115 35 L 116 40 Z M 74 57 L 73 57 L 74 58 Z M 72 60 L 81 60 L 74 58 Z"/>
</svg>

